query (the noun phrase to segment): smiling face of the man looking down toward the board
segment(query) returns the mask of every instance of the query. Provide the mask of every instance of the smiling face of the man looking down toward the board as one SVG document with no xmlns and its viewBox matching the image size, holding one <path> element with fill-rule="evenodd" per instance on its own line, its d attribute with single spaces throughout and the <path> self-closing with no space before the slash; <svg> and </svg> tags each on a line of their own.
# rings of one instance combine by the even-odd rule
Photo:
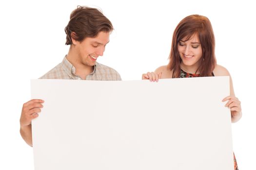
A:
<svg viewBox="0 0 256 170">
<path fill-rule="evenodd" d="M 110 33 L 99 32 L 94 38 L 87 37 L 78 42 L 75 46 L 77 50 L 78 62 L 85 66 L 94 66 L 98 56 L 102 56 L 105 46 L 109 42 Z"/>
</svg>

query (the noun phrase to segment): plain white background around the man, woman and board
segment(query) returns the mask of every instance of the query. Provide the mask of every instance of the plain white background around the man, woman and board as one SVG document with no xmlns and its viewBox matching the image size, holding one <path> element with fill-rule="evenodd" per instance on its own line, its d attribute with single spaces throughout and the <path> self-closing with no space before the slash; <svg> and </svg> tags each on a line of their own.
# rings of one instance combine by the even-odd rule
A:
<svg viewBox="0 0 256 170">
<path fill-rule="evenodd" d="M 10 0 L 0 2 L 1 170 L 33 170 L 32 148 L 19 133 L 22 104 L 30 100 L 30 79 L 55 67 L 68 52 L 64 28 L 77 5 L 99 7 L 112 21 L 115 31 L 98 62 L 115 68 L 123 80 L 139 80 L 142 73 L 168 63 L 172 34 L 182 18 L 208 17 L 217 63 L 229 70 L 242 102 L 243 117 L 232 129 L 238 167 L 254 168 L 256 12 L 251 1 Z"/>
</svg>

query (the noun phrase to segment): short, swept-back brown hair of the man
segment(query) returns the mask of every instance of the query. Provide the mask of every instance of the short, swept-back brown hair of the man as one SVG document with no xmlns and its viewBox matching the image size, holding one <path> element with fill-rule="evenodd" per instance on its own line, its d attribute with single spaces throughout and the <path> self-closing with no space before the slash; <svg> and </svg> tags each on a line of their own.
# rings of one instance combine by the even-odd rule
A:
<svg viewBox="0 0 256 170">
<path fill-rule="evenodd" d="M 82 41 L 86 37 L 95 37 L 99 32 L 112 32 L 113 26 L 110 20 L 96 8 L 78 6 L 71 15 L 68 25 L 65 27 L 66 45 L 72 44 L 72 38 Z M 71 35 L 74 32 L 75 34 Z"/>
</svg>

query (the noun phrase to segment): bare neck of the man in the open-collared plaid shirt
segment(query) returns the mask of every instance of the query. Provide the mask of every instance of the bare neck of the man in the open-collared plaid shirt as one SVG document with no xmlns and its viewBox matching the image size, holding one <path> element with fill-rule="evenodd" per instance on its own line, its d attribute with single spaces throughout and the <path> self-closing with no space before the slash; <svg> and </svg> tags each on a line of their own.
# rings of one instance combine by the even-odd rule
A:
<svg viewBox="0 0 256 170">
<path fill-rule="evenodd" d="M 93 72 L 94 66 L 87 66 L 83 63 L 82 58 L 79 57 L 79 54 L 74 50 L 72 45 L 69 48 L 67 54 L 67 60 L 76 68 L 75 74 L 85 79 L 88 74 Z"/>
</svg>

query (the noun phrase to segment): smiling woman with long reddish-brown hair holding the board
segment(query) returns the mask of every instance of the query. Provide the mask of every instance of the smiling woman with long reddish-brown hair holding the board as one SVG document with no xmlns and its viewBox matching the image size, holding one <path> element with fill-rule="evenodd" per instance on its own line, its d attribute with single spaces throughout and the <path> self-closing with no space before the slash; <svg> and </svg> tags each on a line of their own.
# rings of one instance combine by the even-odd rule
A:
<svg viewBox="0 0 256 170">
<path fill-rule="evenodd" d="M 217 65 L 212 25 L 204 16 L 191 15 L 179 22 L 173 34 L 169 59 L 167 66 L 142 74 L 142 79 L 158 82 L 165 78 L 230 76 L 226 68 Z M 231 110 L 232 122 L 238 121 L 242 116 L 241 102 L 235 97 L 231 76 L 230 96 L 222 101 L 228 101 L 225 107 Z M 234 166 L 238 170 L 235 155 Z"/>
</svg>

